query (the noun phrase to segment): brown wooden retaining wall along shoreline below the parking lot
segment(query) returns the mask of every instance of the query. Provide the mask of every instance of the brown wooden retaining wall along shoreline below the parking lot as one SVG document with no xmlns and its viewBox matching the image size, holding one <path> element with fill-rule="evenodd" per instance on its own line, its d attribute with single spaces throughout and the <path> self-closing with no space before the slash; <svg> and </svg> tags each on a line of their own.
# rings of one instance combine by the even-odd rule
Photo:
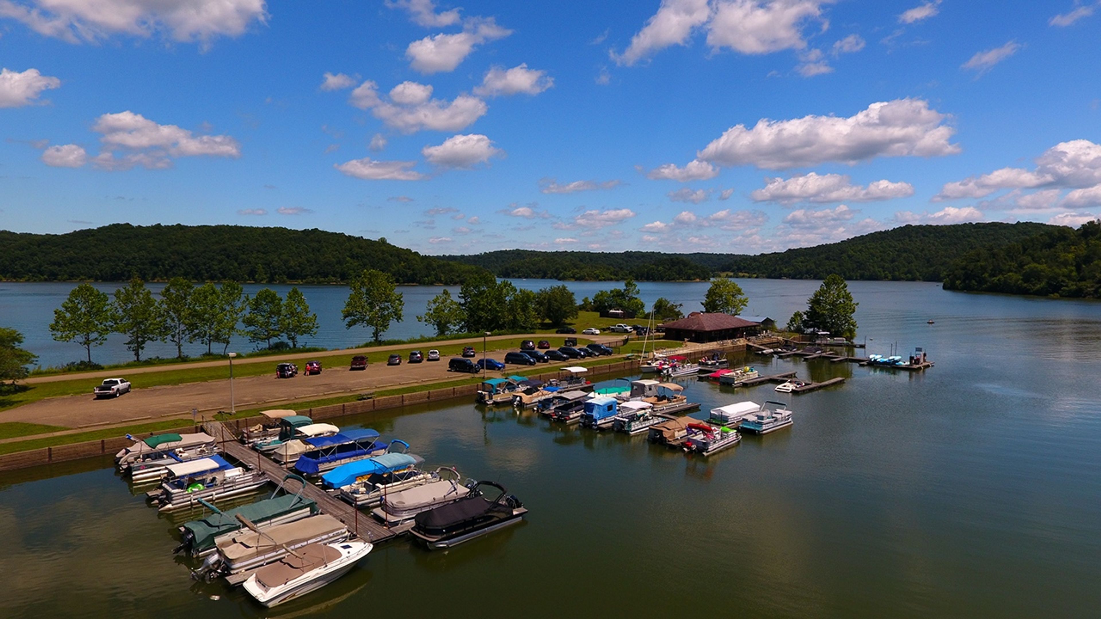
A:
<svg viewBox="0 0 1101 619">
<path fill-rule="evenodd" d="M 596 366 L 589 368 L 587 376 L 596 377 L 601 374 L 617 373 L 617 372 L 632 372 L 639 369 L 639 361 L 635 360 L 624 360 L 614 363 L 608 363 L 604 366 Z M 550 380 L 553 378 L 558 378 L 559 372 L 546 372 L 531 378 L 538 380 Z M 359 402 L 346 402 L 344 404 L 330 404 L 328 406 L 317 406 L 315 409 L 304 409 L 298 412 L 312 417 L 315 421 L 330 420 L 345 415 L 358 415 L 362 413 L 370 413 L 372 411 L 382 411 L 388 409 L 400 409 L 405 405 L 411 404 L 424 404 L 427 402 L 438 402 L 442 400 L 453 400 L 456 398 L 470 398 L 472 401 L 473 394 L 478 391 L 477 384 L 464 384 L 460 387 L 444 387 L 440 389 L 430 389 L 427 391 L 418 391 L 416 393 L 405 393 L 402 395 L 386 395 L 383 398 L 372 398 L 370 400 L 361 400 Z M 226 425 L 233 426 L 239 433 L 241 428 L 248 427 L 250 425 L 255 425 L 261 422 L 264 417 L 257 415 L 252 417 L 236 419 L 227 422 L 222 422 Z M 181 422 L 184 423 L 184 422 Z M 187 434 L 193 432 L 201 432 L 201 428 L 192 425 L 184 425 L 175 430 L 161 430 L 155 433 L 144 433 L 135 434 L 134 438 L 142 439 L 151 434 Z M 0 455 L 0 470 L 13 470 L 17 468 L 29 468 L 32 466 L 41 466 L 51 463 L 61 463 L 68 460 L 76 460 L 80 458 L 90 458 L 96 456 L 102 456 L 105 454 L 116 454 L 119 449 L 127 447 L 132 444 L 124 436 L 119 436 L 115 438 L 103 438 L 100 441 L 88 441 L 85 443 L 73 443 L 69 445 L 58 445 L 56 447 L 44 447 L 41 449 L 31 449 L 29 452 L 17 452 L 14 454 L 3 454 Z"/>
</svg>

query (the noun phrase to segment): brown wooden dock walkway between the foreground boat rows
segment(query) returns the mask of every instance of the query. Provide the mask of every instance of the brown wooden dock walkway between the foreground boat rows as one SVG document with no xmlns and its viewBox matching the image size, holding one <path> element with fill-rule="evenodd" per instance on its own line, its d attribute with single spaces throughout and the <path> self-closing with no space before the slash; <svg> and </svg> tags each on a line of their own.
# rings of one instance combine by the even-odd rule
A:
<svg viewBox="0 0 1101 619">
<path fill-rule="evenodd" d="M 264 457 L 260 452 L 250 449 L 242 445 L 237 436 L 228 427 L 221 424 L 221 422 L 210 421 L 203 424 L 204 431 L 214 436 L 218 441 L 218 445 L 221 447 L 222 453 L 228 454 L 237 461 L 241 463 L 249 468 L 259 470 L 268 478 L 272 484 L 280 484 L 287 474 L 287 469 L 275 464 L 271 458 Z M 404 533 L 408 526 L 405 528 L 393 528 L 389 529 L 383 526 L 373 518 L 366 513 L 360 513 L 355 507 L 341 501 L 340 499 L 327 493 L 317 486 L 313 484 L 307 484 L 303 490 L 302 496 L 307 499 L 317 502 L 317 507 L 323 513 L 327 513 L 333 518 L 336 518 L 340 522 L 344 522 L 351 531 L 359 537 L 362 537 L 372 544 L 378 544 L 379 542 L 385 542 Z"/>
</svg>

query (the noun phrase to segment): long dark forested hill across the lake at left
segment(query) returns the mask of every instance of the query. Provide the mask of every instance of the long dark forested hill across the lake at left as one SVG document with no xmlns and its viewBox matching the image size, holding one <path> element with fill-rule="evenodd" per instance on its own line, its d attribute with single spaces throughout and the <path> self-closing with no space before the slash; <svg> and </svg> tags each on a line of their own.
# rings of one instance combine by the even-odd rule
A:
<svg viewBox="0 0 1101 619">
<path fill-rule="evenodd" d="M 65 235 L 0 230 L 0 280 L 348 281 L 371 268 L 400 283 L 458 284 L 477 267 L 324 230 L 112 224 Z"/>
</svg>

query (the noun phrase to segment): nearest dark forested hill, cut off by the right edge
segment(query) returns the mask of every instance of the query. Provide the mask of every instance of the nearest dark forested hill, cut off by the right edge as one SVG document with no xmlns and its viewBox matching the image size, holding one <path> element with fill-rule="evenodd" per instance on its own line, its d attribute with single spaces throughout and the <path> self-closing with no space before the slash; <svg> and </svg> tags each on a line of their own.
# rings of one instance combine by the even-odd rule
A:
<svg viewBox="0 0 1101 619">
<path fill-rule="evenodd" d="M 1101 298 L 1101 222 L 968 252 L 945 289 Z"/>
</svg>

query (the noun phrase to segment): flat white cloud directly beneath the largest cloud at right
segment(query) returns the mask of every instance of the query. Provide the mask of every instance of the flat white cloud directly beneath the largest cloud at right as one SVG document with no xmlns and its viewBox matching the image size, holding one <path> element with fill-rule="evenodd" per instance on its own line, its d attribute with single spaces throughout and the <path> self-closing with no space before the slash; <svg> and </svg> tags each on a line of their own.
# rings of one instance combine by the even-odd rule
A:
<svg viewBox="0 0 1101 619">
<path fill-rule="evenodd" d="M 909 183 L 875 181 L 866 187 L 853 185 L 849 176 L 842 174 L 817 174 L 810 172 L 791 178 L 765 177 L 765 186 L 750 194 L 756 202 L 794 204 L 798 202 L 872 202 L 901 198 L 914 195 Z"/>
</svg>

